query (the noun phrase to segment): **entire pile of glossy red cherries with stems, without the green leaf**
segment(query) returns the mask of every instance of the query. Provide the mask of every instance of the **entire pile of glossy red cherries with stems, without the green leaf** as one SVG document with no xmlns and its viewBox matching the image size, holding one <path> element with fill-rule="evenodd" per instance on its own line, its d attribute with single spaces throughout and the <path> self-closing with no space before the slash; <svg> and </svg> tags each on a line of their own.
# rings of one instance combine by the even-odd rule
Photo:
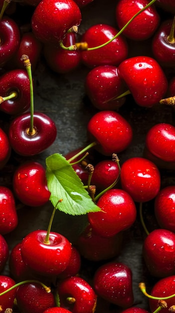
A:
<svg viewBox="0 0 175 313">
<path fill-rule="evenodd" d="M 175 311 L 175 185 L 168 179 L 162 183 L 175 170 L 174 123 L 155 123 L 145 136 L 142 157 L 119 160 L 135 134 L 134 123 L 122 114 L 127 97 L 138 110 L 166 106 L 173 114 L 175 1 L 117 0 L 116 28 L 98 23 L 77 32 L 90 2 L 0 0 L 1 177 L 11 168 L 11 182 L 0 185 L 2 313 Z M 151 42 L 151 53 L 132 55 L 137 42 Z M 6 236 L 18 225 L 17 209 L 42 209 L 52 196 L 46 168 L 37 161 L 57 134 L 55 121 L 33 106 L 31 68 L 37 71 L 40 58 L 55 74 L 88 68 L 84 93 L 94 112 L 87 124 L 88 145 L 65 158 L 99 210 L 87 208 L 83 216 L 71 216 L 67 229 L 64 224 L 66 233 L 82 223 L 76 240 L 51 231 L 55 210 L 64 201 L 60 191 L 48 229 L 29 232 L 9 249 Z M 76 187 L 67 192 L 82 201 Z M 149 206 L 153 212 L 146 216 Z M 151 294 L 142 277 L 138 289 L 149 297 L 147 307 L 135 299 L 132 269 L 118 260 L 138 223 Z"/>
</svg>

